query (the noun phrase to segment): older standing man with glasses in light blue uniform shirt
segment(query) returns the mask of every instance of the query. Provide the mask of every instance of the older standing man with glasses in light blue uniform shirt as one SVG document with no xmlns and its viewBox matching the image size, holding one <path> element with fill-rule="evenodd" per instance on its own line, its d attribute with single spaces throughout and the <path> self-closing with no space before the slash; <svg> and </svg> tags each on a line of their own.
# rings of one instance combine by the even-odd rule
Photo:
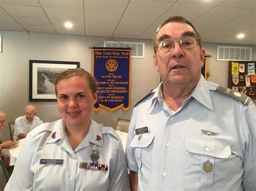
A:
<svg viewBox="0 0 256 191">
<path fill-rule="evenodd" d="M 153 40 L 161 83 L 133 110 L 126 144 L 132 190 L 256 190 L 256 109 L 205 81 L 200 34 L 183 17 Z"/>
</svg>

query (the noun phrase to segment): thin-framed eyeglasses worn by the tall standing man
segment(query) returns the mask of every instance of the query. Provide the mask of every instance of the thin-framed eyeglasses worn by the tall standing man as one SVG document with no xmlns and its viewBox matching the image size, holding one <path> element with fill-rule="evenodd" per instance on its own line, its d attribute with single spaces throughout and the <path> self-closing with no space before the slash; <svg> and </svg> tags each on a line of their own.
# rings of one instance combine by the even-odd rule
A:
<svg viewBox="0 0 256 191">
<path fill-rule="evenodd" d="M 173 50 L 176 43 L 179 43 L 181 48 L 191 49 L 197 47 L 200 44 L 200 39 L 197 37 L 183 37 L 175 42 L 172 40 L 163 40 L 160 41 L 160 43 L 158 43 L 154 48 L 159 53 L 167 53 Z"/>
</svg>

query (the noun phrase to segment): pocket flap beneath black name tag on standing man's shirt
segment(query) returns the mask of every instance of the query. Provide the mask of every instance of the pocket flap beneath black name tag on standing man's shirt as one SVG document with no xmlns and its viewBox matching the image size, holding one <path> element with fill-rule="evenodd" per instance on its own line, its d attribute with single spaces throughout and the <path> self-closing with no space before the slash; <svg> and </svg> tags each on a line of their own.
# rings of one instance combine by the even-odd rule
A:
<svg viewBox="0 0 256 191">
<path fill-rule="evenodd" d="M 139 138 L 140 137 L 140 138 Z M 130 144 L 131 147 L 148 147 L 154 139 L 154 134 L 143 133 L 134 136 Z"/>
</svg>

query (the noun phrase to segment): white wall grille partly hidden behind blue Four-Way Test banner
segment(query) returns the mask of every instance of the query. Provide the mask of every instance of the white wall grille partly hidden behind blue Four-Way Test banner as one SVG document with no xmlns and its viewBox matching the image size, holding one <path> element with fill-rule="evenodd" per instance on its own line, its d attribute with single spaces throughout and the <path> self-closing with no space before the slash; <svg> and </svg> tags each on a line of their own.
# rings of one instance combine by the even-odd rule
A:
<svg viewBox="0 0 256 191">
<path fill-rule="evenodd" d="M 144 47 L 145 43 L 129 43 L 129 42 L 117 42 L 117 41 L 106 41 L 104 47 L 117 47 L 117 48 L 133 48 L 132 58 L 144 58 Z"/>
</svg>

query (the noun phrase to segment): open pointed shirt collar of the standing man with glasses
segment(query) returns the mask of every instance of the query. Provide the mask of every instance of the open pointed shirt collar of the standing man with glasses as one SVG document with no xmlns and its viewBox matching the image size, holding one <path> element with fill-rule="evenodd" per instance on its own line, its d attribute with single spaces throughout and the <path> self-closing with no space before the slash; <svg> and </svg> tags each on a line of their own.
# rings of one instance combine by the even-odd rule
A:
<svg viewBox="0 0 256 191">
<path fill-rule="evenodd" d="M 203 75 L 201 75 L 199 82 L 197 83 L 196 87 L 192 90 L 191 95 L 183 101 L 183 103 L 187 103 L 191 97 L 195 98 L 199 103 L 203 104 L 205 107 L 207 107 L 210 110 L 213 109 L 213 104 L 211 100 L 210 90 L 208 83 L 204 79 Z M 149 113 L 153 111 L 156 103 L 160 103 L 163 106 L 163 103 L 165 102 L 164 96 L 163 96 L 163 83 L 161 82 L 159 86 L 156 89 L 156 93 L 152 97 L 152 101 L 148 105 L 148 111 Z"/>
</svg>

